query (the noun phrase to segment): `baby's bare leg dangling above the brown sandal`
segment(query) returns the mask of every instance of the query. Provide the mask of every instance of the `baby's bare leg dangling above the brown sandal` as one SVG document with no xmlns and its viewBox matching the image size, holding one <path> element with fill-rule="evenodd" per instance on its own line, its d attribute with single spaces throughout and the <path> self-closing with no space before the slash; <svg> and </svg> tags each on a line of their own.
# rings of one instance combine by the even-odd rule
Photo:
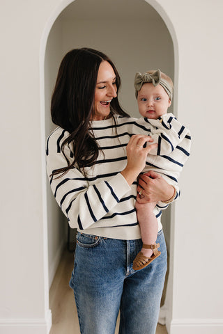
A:
<svg viewBox="0 0 223 334">
<path fill-rule="evenodd" d="M 153 245 L 157 239 L 158 222 L 153 209 L 156 203 L 139 204 L 136 202 L 137 219 L 141 230 L 141 239 L 144 244 Z M 141 252 L 146 257 L 151 257 L 153 250 L 141 248 Z"/>
</svg>

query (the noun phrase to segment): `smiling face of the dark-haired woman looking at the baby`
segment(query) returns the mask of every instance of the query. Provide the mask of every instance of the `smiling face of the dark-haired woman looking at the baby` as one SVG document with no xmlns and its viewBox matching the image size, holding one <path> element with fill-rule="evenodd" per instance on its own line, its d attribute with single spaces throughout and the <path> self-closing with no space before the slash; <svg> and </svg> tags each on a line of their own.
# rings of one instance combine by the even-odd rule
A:
<svg viewBox="0 0 223 334">
<path fill-rule="evenodd" d="M 95 88 L 93 120 L 105 120 L 110 113 L 110 103 L 117 96 L 116 74 L 107 61 L 102 61 L 98 69 Z"/>
</svg>

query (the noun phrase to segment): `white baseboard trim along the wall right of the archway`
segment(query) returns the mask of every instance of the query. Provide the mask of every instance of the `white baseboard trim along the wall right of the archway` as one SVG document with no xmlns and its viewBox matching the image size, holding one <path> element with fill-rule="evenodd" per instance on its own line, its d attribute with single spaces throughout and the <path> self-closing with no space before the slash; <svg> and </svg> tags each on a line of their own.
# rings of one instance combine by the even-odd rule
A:
<svg viewBox="0 0 223 334">
<path fill-rule="evenodd" d="M 169 334 L 222 334 L 223 319 L 175 319 Z"/>
</svg>

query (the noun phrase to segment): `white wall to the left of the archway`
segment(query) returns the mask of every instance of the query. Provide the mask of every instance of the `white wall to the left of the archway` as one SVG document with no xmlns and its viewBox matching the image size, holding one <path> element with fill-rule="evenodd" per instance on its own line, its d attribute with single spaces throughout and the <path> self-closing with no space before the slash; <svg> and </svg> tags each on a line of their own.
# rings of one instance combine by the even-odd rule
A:
<svg viewBox="0 0 223 334">
<path fill-rule="evenodd" d="M 50 326 L 39 53 L 53 2 L 1 1 L 1 333 Z"/>
</svg>

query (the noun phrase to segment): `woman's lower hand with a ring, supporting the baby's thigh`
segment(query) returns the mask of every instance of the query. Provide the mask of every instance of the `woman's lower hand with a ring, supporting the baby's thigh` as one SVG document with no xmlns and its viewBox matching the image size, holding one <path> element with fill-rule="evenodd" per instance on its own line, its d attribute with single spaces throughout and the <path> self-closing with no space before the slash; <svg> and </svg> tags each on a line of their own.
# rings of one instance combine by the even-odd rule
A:
<svg viewBox="0 0 223 334">
<path fill-rule="evenodd" d="M 141 193 L 141 195 L 139 195 Z M 159 202 L 169 200 L 174 195 L 174 187 L 171 186 L 162 175 L 150 170 L 139 176 L 137 186 L 137 202 Z"/>
</svg>

